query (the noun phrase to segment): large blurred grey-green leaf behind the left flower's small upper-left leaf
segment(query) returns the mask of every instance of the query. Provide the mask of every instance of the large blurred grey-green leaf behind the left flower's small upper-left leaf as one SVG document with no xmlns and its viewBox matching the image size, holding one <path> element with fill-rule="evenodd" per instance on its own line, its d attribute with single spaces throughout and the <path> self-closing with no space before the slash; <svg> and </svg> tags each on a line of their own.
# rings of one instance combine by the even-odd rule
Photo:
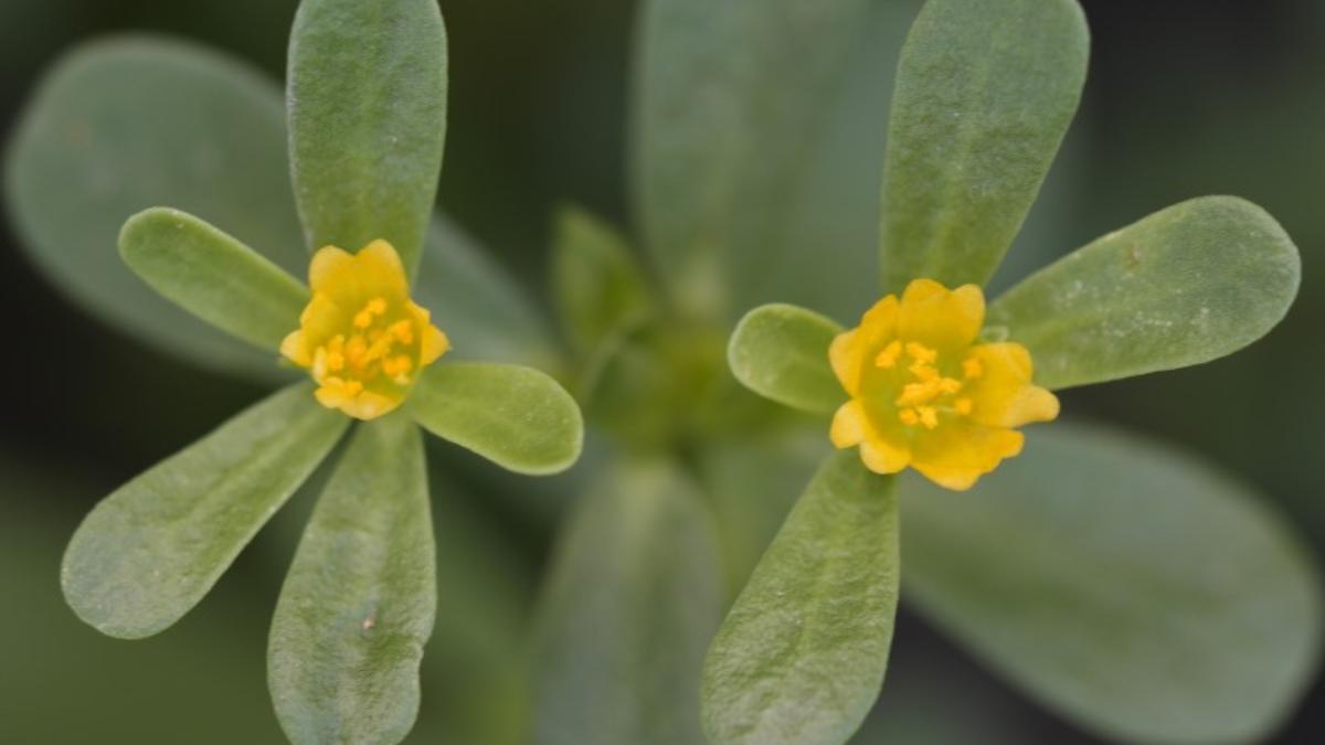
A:
<svg viewBox="0 0 1325 745">
<path fill-rule="evenodd" d="M 184 44 L 78 48 L 45 77 L 9 150 L 9 213 L 29 256 L 86 310 L 162 351 L 281 379 L 270 354 L 146 292 L 115 251 L 130 215 L 172 204 L 302 272 L 280 101 L 246 65 Z"/>
</svg>

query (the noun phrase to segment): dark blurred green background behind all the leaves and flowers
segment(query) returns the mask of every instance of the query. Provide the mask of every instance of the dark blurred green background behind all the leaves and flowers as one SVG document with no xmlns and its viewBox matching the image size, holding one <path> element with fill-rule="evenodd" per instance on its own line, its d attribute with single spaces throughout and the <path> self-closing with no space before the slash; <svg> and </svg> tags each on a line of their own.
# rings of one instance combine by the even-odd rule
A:
<svg viewBox="0 0 1325 745">
<path fill-rule="evenodd" d="M 542 294 L 558 203 L 575 201 L 628 224 L 624 151 L 635 4 L 441 5 L 452 98 L 440 199 Z M 1325 395 L 1317 383 L 1325 370 L 1325 91 L 1318 82 L 1325 4 L 1083 5 L 1094 36 L 1083 110 L 1051 175 L 1048 211 L 1032 216 L 1034 229 L 1002 280 L 1195 195 L 1236 194 L 1273 213 L 1297 241 L 1305 269 L 1302 293 L 1283 326 L 1243 354 L 1071 391 L 1064 404 L 1242 473 L 1325 555 Z M 295 0 L 0 0 L 0 134 L 8 135 L 50 61 L 106 32 L 188 37 L 278 78 L 294 7 Z M 886 29 L 894 34 L 886 44 L 904 30 Z M 886 80 L 892 57 L 880 57 L 888 68 L 867 73 Z M 878 102 L 863 101 L 861 110 L 868 119 Z M 880 129 L 869 144 L 881 151 L 881 141 Z M 8 376 L 0 410 L 0 742 L 281 742 L 265 684 L 266 626 L 298 516 L 310 508 L 307 493 L 196 611 L 159 638 L 102 638 L 64 607 L 58 589 L 60 553 L 97 500 L 260 391 L 164 358 L 83 315 L 26 264 L 16 240 L 0 221 L 8 358 L 0 366 Z M 107 251 L 113 240 L 107 236 Z M 144 416 L 146 400 L 151 414 Z M 452 498 L 447 475 L 439 479 L 437 520 L 464 525 L 460 533 L 470 545 L 439 550 L 440 622 L 411 741 L 518 741 L 526 716 L 521 624 L 556 505 L 530 516 L 518 502 L 489 494 Z M 484 559 L 476 563 L 474 555 Z M 448 597 L 478 601 L 449 604 Z M 1096 741 L 1006 688 L 913 616 L 902 615 L 897 640 L 880 708 L 860 742 Z M 1320 684 L 1276 741 L 1325 741 Z"/>
</svg>

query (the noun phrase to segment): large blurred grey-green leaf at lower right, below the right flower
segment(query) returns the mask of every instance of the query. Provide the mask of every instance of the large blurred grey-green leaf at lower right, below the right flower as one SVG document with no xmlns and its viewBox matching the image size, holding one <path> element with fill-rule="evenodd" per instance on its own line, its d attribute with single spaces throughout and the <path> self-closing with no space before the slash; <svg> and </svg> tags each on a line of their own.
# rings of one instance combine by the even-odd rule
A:
<svg viewBox="0 0 1325 745">
<path fill-rule="evenodd" d="M 973 493 L 902 484 L 908 602 L 1129 742 L 1249 742 L 1316 667 L 1320 577 L 1235 479 L 1057 423 Z"/>
</svg>

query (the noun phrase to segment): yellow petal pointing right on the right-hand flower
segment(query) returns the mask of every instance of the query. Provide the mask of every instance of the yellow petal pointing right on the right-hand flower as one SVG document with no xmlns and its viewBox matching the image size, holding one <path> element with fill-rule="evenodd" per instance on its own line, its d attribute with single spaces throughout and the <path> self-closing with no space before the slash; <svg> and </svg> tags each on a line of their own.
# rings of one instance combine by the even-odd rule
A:
<svg viewBox="0 0 1325 745">
<path fill-rule="evenodd" d="M 971 358 L 983 372 L 973 391 L 971 416 L 987 427 L 1020 427 L 1031 422 L 1052 422 L 1059 415 L 1059 399 L 1031 383 L 1031 353 L 1015 342 L 978 345 Z"/>
</svg>

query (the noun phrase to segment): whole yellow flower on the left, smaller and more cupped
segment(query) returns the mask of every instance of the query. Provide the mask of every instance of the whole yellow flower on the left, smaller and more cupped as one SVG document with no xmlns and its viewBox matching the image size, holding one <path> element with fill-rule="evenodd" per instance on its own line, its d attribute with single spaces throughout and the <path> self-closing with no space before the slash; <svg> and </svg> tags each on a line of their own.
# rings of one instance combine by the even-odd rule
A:
<svg viewBox="0 0 1325 745">
<path fill-rule="evenodd" d="M 306 367 L 327 408 L 375 419 L 400 406 L 419 371 L 449 349 L 428 312 L 409 300 L 396 249 L 384 240 L 351 255 L 334 245 L 309 265 L 313 300 L 281 354 Z"/>
</svg>

